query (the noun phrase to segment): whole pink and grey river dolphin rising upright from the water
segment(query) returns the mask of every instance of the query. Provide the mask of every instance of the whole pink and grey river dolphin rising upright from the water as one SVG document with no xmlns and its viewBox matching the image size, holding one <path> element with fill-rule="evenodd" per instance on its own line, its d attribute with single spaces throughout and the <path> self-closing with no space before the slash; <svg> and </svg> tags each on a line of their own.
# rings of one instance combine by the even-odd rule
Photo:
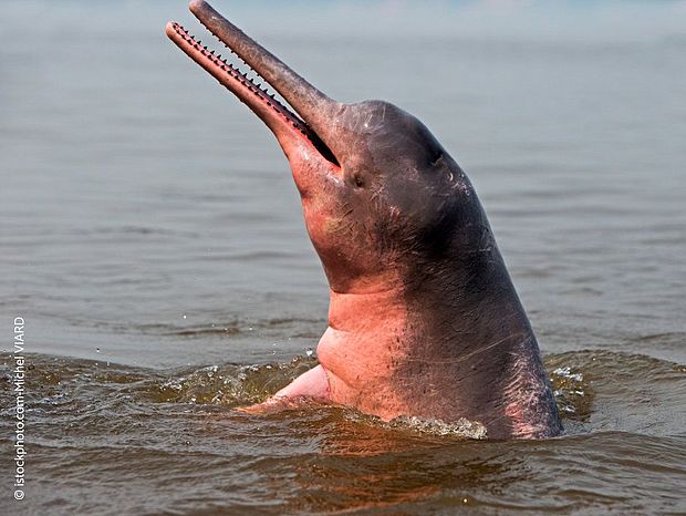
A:
<svg viewBox="0 0 686 516">
<path fill-rule="evenodd" d="M 538 344 L 486 215 L 428 130 L 384 102 L 329 99 L 206 2 L 190 10 L 297 112 L 167 24 L 276 135 L 330 283 L 320 364 L 243 410 L 309 398 L 384 420 L 467 417 L 491 437 L 559 434 Z"/>
</svg>

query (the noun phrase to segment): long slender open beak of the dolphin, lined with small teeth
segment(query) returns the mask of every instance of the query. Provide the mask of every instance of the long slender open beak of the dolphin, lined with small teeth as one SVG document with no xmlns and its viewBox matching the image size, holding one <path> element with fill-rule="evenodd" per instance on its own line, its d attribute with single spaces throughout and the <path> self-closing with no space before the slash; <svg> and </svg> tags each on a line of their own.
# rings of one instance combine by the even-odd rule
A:
<svg viewBox="0 0 686 516">
<path fill-rule="evenodd" d="M 316 111 L 313 109 L 316 109 L 318 102 L 332 101 L 222 18 L 208 3 L 193 1 L 190 10 L 212 35 L 245 63 L 247 70 L 241 71 L 239 68 L 241 65 L 228 62 L 215 50 L 202 45 L 201 41 L 196 40 L 180 23 L 167 23 L 166 32 L 172 41 L 247 104 L 272 130 L 281 143 L 283 143 L 282 138 L 300 138 L 309 143 L 324 159 L 339 166 L 332 151 L 308 124 L 306 115 L 301 116 L 295 112 L 300 105 L 303 112 L 310 111 L 311 117 L 314 117 Z M 252 75 L 250 72 L 263 82 L 257 83 L 256 80 L 250 79 L 249 74 Z M 270 89 L 283 96 L 293 111 L 281 103 L 274 93 L 270 93 Z M 318 102 L 312 102 L 313 100 Z"/>
</svg>

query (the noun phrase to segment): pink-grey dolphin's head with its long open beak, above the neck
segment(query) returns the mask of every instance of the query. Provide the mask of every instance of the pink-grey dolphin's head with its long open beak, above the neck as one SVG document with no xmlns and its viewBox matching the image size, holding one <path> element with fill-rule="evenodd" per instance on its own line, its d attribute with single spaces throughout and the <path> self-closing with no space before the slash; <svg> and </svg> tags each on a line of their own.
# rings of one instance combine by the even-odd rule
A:
<svg viewBox="0 0 686 516">
<path fill-rule="evenodd" d="M 332 290 L 378 290 L 423 262 L 482 245 L 488 225 L 471 184 L 415 116 L 384 101 L 332 100 L 207 2 L 194 0 L 190 10 L 290 105 L 167 24 L 169 38 L 277 137 Z"/>
</svg>

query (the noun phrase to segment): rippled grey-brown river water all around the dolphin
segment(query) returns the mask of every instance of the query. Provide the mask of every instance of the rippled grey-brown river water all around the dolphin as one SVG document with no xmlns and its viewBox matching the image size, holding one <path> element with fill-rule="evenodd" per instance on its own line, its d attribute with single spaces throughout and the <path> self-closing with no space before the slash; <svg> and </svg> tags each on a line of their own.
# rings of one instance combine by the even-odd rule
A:
<svg viewBox="0 0 686 516">
<path fill-rule="evenodd" d="M 568 435 L 232 412 L 311 367 L 325 327 L 276 142 L 164 37 L 168 19 L 201 34 L 185 2 L 0 3 L 0 512 L 686 512 L 684 2 L 216 3 L 458 159 Z M 21 504 L 18 314 L 34 353 Z"/>
</svg>

